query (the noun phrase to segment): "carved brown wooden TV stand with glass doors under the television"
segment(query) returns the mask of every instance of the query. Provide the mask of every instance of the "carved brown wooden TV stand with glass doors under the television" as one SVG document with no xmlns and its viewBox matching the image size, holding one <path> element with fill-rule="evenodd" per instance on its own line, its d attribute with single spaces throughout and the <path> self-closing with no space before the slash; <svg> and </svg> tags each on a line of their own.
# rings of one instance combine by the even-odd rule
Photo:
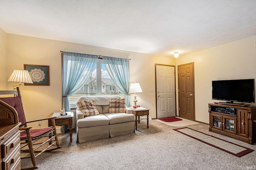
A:
<svg viewBox="0 0 256 170">
<path fill-rule="evenodd" d="M 256 142 L 256 107 L 227 103 L 208 103 L 208 107 L 210 132 L 230 136 L 249 144 Z"/>
</svg>

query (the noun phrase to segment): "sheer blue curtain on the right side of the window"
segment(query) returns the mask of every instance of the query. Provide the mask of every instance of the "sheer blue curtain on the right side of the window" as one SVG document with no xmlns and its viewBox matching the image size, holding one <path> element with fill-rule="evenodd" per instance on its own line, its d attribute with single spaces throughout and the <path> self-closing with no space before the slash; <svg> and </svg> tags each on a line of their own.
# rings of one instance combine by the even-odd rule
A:
<svg viewBox="0 0 256 170">
<path fill-rule="evenodd" d="M 116 88 L 124 94 L 126 99 L 126 106 L 130 107 L 129 95 L 129 59 L 102 56 L 110 79 Z"/>
</svg>

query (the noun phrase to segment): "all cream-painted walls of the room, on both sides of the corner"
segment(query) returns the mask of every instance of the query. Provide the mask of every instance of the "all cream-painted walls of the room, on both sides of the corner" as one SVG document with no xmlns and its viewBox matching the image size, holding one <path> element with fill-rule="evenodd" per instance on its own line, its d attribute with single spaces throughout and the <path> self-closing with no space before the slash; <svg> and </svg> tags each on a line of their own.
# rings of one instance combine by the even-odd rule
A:
<svg viewBox="0 0 256 170">
<path fill-rule="evenodd" d="M 214 102 L 211 97 L 212 80 L 256 78 L 255 38 L 256 36 L 252 36 L 174 59 L 173 57 L 6 34 L 0 29 L 0 43 L 3 44 L 0 46 L 0 74 L 3 75 L 3 78 L 0 78 L 0 88 L 1 90 L 12 89 L 12 83 L 6 83 L 6 81 L 14 69 L 23 69 L 24 64 L 49 65 L 50 86 L 22 85 L 20 87 L 27 121 L 45 118 L 61 107 L 60 51 L 130 58 L 130 83 L 139 82 L 143 91 L 137 94 L 138 104 L 150 109 L 150 117 L 156 118 L 155 92 L 150 92 L 150 88 L 155 89 L 155 63 L 176 65 L 177 69 L 177 65 L 194 62 L 195 118 L 196 121 L 209 123 L 208 103 Z M 176 85 L 177 83 L 176 75 Z M 131 101 L 133 99 L 134 95 L 131 95 Z"/>
</svg>

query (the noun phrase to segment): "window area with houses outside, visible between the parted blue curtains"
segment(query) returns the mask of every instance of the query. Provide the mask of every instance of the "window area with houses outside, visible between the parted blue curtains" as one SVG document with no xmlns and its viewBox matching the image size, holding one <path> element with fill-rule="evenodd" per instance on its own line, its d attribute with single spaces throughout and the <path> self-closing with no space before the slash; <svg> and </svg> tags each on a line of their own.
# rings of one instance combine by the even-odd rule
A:
<svg viewBox="0 0 256 170">
<path fill-rule="evenodd" d="M 97 86 L 100 85 L 97 88 Z M 81 96 L 85 95 L 120 95 L 118 89 L 114 86 L 114 83 L 111 81 L 108 71 L 106 70 L 105 64 L 102 59 L 98 59 L 97 65 L 86 83 L 83 87 L 76 92 L 75 95 L 69 97 L 70 107 L 76 107 L 76 102 Z"/>
</svg>

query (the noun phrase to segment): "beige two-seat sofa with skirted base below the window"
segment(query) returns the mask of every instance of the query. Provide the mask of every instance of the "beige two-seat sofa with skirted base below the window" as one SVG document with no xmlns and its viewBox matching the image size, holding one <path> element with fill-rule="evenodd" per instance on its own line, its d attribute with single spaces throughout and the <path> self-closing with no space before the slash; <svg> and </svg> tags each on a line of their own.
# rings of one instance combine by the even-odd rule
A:
<svg viewBox="0 0 256 170">
<path fill-rule="evenodd" d="M 109 113 L 111 98 L 121 97 L 82 96 L 78 99 L 78 101 L 94 100 L 99 112 L 99 115 L 84 116 L 79 107 L 76 109 L 76 133 L 79 143 L 134 132 L 135 116 L 132 110 L 126 107 L 126 113 Z"/>
</svg>

